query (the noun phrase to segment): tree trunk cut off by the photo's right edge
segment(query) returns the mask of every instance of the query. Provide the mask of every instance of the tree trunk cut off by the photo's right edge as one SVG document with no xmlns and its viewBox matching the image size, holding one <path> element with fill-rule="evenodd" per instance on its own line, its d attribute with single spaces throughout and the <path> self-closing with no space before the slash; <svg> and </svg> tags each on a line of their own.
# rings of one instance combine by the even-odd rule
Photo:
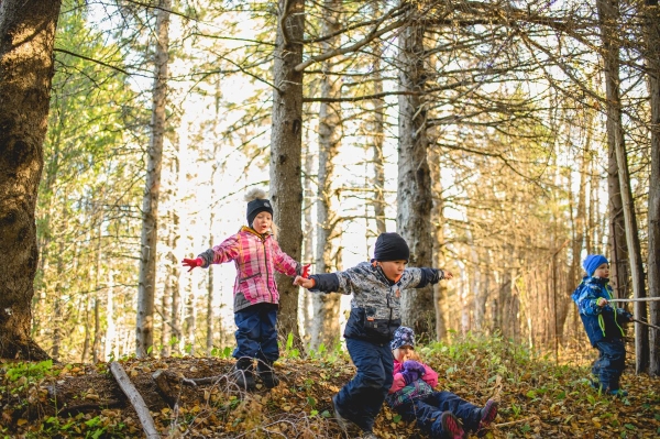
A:
<svg viewBox="0 0 660 439">
<path fill-rule="evenodd" d="M 651 103 L 651 177 L 649 178 L 649 296 L 660 297 L 660 7 L 647 1 L 646 54 Z M 650 322 L 660 326 L 660 301 L 650 303 Z M 651 375 L 660 375 L 660 331 L 650 331 Z"/>
</svg>

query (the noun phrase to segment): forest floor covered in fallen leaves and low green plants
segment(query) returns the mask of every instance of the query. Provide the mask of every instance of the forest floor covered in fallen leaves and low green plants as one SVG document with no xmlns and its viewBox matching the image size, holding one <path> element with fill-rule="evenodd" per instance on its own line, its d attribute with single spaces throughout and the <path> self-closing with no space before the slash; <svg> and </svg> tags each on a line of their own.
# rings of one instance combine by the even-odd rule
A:
<svg viewBox="0 0 660 439">
<path fill-rule="evenodd" d="M 487 438 L 660 437 L 660 378 L 635 375 L 629 359 L 623 377 L 629 396 L 602 395 L 586 380 L 587 359 L 595 356 L 590 351 L 585 345 L 558 361 L 498 338 L 418 349 L 438 371 L 438 388 L 476 405 L 501 400 Z M 279 386 L 249 394 L 230 380 L 233 363 L 194 356 L 120 361 L 162 438 L 344 437 L 331 407 L 332 395 L 354 374 L 344 353 L 300 359 L 297 351 L 285 351 L 275 364 Z M 165 391 L 153 377 L 158 370 L 169 377 Z M 209 376 L 219 380 L 197 386 L 180 381 Z M 0 438 L 144 437 L 109 363 L 0 362 Z M 374 432 L 387 439 L 421 437 L 414 422 L 386 406 Z"/>
</svg>

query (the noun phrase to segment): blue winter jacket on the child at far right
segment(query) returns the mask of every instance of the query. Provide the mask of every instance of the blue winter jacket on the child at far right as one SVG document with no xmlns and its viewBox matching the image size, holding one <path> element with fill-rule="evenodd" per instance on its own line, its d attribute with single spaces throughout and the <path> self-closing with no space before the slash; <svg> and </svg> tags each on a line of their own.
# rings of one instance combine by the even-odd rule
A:
<svg viewBox="0 0 660 439">
<path fill-rule="evenodd" d="M 608 279 L 584 276 L 571 297 L 578 305 L 582 323 L 593 347 L 598 341 L 624 337 L 625 332 L 620 325 L 630 321 L 632 316 L 623 308 L 613 308 L 610 304 L 604 307 L 596 305 L 600 297 L 607 300 L 613 298 Z"/>
</svg>

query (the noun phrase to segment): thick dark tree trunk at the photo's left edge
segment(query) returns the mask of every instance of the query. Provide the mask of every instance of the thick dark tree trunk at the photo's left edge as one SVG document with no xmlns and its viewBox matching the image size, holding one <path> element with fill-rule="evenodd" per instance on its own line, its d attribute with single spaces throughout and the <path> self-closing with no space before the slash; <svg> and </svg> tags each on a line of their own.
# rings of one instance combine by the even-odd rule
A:
<svg viewBox="0 0 660 439">
<path fill-rule="evenodd" d="M 30 338 L 59 0 L 0 1 L 0 358 L 44 360 Z"/>
</svg>

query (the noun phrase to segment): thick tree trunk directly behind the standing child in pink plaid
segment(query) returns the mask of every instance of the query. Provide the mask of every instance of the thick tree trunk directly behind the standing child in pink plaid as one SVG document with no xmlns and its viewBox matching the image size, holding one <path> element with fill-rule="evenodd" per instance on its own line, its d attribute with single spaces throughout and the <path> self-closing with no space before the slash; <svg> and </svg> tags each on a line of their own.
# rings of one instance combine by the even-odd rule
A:
<svg viewBox="0 0 660 439">
<path fill-rule="evenodd" d="M 302 73 L 296 65 L 302 62 L 305 30 L 305 0 L 279 0 L 279 20 L 276 54 L 273 65 L 275 87 L 273 92 L 273 125 L 271 129 L 271 200 L 274 204 L 275 223 L 282 226 L 282 250 L 300 260 L 302 242 L 300 182 L 302 151 Z M 298 290 L 292 279 L 276 275 L 279 290 L 279 333 L 298 332 Z M 301 345 L 300 345 L 301 347 Z"/>
</svg>

